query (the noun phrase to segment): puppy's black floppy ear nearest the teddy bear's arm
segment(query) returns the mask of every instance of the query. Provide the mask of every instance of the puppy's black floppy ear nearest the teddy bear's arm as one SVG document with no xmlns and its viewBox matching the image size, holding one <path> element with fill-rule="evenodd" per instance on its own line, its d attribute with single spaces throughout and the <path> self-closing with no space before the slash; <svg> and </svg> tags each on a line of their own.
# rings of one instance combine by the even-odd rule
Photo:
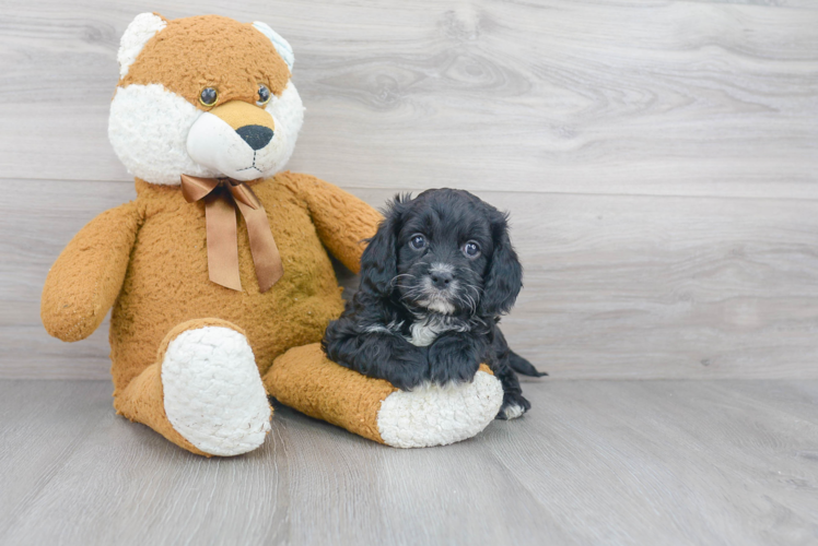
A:
<svg viewBox="0 0 818 546">
<path fill-rule="evenodd" d="M 395 200 L 384 211 L 384 219 L 375 236 L 361 256 L 361 290 L 388 297 L 395 286 L 393 280 L 398 274 L 397 237 L 402 224 L 407 195 L 395 195 Z"/>
</svg>

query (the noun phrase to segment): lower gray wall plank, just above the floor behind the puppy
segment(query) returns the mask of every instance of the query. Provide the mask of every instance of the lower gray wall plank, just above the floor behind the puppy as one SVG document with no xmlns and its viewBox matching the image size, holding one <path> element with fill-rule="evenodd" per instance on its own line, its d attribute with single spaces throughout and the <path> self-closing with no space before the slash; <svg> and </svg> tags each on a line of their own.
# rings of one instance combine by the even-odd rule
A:
<svg viewBox="0 0 818 546">
<path fill-rule="evenodd" d="M 0 240 L 0 377 L 107 378 L 107 322 L 52 340 L 39 294 L 73 234 L 132 185 L 5 183 L 0 232 L 22 235 Z M 351 191 L 375 206 L 393 194 Z M 815 202 L 479 194 L 511 212 L 525 268 L 503 330 L 553 378 L 818 378 Z"/>
</svg>

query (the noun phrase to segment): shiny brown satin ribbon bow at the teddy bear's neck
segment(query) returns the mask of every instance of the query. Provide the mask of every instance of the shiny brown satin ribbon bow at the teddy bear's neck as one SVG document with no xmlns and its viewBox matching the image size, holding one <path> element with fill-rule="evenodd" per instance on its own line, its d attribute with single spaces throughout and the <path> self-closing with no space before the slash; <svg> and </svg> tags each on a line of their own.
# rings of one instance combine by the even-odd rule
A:
<svg viewBox="0 0 818 546">
<path fill-rule="evenodd" d="M 242 290 L 234 204 L 247 224 L 259 289 L 267 292 L 281 278 L 284 266 L 267 222 L 267 212 L 249 186 L 232 178 L 182 175 L 182 194 L 188 203 L 204 200 L 208 274 L 212 282 L 225 288 Z"/>
</svg>

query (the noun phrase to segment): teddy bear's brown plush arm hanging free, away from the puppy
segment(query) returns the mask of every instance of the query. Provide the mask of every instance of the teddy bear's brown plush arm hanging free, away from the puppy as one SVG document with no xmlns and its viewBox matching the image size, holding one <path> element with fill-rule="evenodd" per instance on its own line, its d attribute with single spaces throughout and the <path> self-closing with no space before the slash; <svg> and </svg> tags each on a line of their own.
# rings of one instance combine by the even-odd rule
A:
<svg viewBox="0 0 818 546">
<path fill-rule="evenodd" d="M 49 334 L 72 342 L 97 329 L 122 286 L 139 225 L 130 202 L 100 214 L 71 239 L 43 288 L 40 318 Z"/>
</svg>

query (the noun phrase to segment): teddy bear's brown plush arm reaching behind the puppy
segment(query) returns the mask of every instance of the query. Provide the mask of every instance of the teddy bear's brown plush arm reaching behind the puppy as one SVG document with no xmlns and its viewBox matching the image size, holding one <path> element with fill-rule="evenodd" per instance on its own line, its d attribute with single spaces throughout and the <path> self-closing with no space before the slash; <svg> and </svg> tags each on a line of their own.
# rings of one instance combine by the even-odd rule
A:
<svg viewBox="0 0 818 546">
<path fill-rule="evenodd" d="M 364 201 L 331 183 L 315 177 L 305 178 L 308 180 L 301 185 L 302 194 L 318 237 L 347 269 L 358 273 L 364 239 L 375 235 L 383 216 Z"/>
</svg>

